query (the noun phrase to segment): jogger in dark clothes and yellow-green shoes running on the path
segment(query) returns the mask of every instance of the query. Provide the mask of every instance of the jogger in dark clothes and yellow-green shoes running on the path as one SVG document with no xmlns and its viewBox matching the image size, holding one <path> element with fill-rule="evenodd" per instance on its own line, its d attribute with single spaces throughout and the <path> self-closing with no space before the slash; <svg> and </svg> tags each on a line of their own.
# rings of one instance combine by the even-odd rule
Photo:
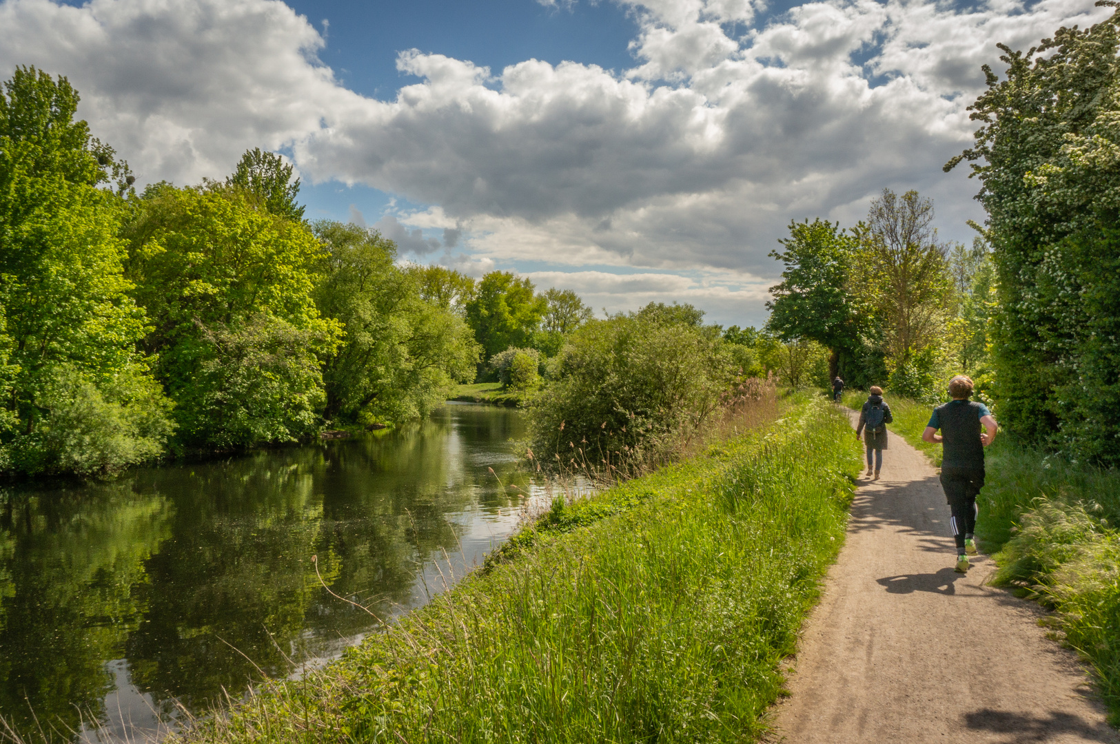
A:
<svg viewBox="0 0 1120 744">
<path fill-rule="evenodd" d="M 952 512 L 956 540 L 956 571 L 969 569 L 969 556 L 977 554 L 977 496 L 983 488 L 983 449 L 996 439 L 998 425 L 988 406 L 969 401 L 972 378 L 958 375 L 949 382 L 949 403 L 937 406 L 922 432 L 926 442 L 941 442 L 941 487 Z M 937 434 L 937 430 L 941 434 Z M 984 431 L 981 431 L 983 428 Z"/>
</svg>

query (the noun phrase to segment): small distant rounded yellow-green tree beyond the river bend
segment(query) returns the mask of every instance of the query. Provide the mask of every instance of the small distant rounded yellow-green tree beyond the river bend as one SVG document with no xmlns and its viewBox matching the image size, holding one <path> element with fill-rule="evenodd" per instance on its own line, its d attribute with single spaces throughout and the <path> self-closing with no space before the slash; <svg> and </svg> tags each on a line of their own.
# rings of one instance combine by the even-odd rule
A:
<svg viewBox="0 0 1120 744">
<path fill-rule="evenodd" d="M 547 309 L 548 302 L 534 294 L 529 279 L 504 271 L 483 276 L 466 310 L 484 360 L 511 346 L 531 346 Z"/>
</svg>

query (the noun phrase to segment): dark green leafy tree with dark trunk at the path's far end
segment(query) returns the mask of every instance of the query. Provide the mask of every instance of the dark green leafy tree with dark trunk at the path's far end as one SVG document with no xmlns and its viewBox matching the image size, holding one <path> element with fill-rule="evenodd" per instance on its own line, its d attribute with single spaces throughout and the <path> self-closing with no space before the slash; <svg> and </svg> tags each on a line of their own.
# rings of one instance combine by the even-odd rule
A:
<svg viewBox="0 0 1120 744">
<path fill-rule="evenodd" d="M 790 223 L 784 251 L 771 256 L 785 264 L 782 283 L 771 288 L 767 328 L 785 341 L 811 339 L 832 350 L 829 376 L 857 382 L 864 371 L 864 335 L 874 324 L 866 292 L 853 286 L 860 253 L 857 234 L 820 218 Z"/>
</svg>

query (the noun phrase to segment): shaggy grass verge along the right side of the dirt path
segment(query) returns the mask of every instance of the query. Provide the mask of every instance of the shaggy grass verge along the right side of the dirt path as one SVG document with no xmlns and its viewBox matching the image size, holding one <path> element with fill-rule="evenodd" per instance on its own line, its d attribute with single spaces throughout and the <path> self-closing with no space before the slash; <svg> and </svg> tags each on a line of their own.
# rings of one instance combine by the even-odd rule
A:
<svg viewBox="0 0 1120 744">
<path fill-rule="evenodd" d="M 931 406 L 886 396 L 888 427 L 941 464 L 921 441 Z M 862 394 L 844 394 L 859 407 Z M 996 582 L 1056 610 L 1054 627 L 1090 663 L 1120 726 L 1120 473 L 1024 448 L 1006 434 L 987 452 L 977 536 L 999 564 Z"/>
</svg>

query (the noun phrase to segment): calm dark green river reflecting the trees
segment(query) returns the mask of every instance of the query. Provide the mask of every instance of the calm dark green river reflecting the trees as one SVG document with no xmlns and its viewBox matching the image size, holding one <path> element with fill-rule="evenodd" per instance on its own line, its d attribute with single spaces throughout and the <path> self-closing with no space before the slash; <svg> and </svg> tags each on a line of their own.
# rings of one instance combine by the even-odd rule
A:
<svg viewBox="0 0 1120 744">
<path fill-rule="evenodd" d="M 311 556 L 379 616 L 423 604 L 516 527 L 523 435 L 515 411 L 449 404 L 355 440 L 0 488 L 0 715 L 132 738 L 336 657 L 377 624 Z"/>
</svg>

